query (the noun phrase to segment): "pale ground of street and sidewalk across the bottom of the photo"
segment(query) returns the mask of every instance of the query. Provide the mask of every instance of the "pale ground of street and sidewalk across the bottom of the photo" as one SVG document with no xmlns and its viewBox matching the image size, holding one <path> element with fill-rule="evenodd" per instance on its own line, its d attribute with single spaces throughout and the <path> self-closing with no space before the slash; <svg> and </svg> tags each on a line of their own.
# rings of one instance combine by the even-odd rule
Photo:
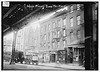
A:
<svg viewBox="0 0 100 72">
<path fill-rule="evenodd" d="M 8 62 L 3 63 L 3 70 L 37 70 L 37 71 L 66 71 L 66 70 L 85 70 L 84 67 L 71 64 L 56 64 L 56 63 L 39 63 L 39 65 L 28 64 L 12 64 Z"/>
</svg>

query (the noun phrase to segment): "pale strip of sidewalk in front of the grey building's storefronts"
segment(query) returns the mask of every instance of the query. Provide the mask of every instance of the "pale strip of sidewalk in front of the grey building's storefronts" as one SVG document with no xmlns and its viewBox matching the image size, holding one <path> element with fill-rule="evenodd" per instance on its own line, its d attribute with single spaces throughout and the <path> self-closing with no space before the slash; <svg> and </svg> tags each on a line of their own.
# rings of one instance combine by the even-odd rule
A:
<svg viewBox="0 0 100 72">
<path fill-rule="evenodd" d="M 75 70 L 85 70 L 85 67 L 79 66 L 78 64 L 57 64 L 57 63 L 39 63 L 39 65 L 75 69 Z"/>
</svg>

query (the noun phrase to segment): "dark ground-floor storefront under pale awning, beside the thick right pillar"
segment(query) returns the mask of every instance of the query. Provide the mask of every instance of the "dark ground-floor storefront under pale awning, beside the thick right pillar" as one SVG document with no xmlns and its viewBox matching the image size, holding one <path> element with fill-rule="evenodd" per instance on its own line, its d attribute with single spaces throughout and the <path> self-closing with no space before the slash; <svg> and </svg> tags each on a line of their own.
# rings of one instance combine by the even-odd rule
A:
<svg viewBox="0 0 100 72">
<path fill-rule="evenodd" d="M 71 45 L 67 50 L 67 63 L 78 63 L 82 65 L 85 60 L 84 45 Z"/>
</svg>

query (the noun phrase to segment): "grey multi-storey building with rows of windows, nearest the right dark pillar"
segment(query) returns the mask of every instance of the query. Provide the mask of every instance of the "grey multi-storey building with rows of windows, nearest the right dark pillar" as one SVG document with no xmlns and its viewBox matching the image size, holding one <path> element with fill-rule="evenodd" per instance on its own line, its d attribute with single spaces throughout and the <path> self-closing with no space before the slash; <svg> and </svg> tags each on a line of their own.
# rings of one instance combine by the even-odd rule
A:
<svg viewBox="0 0 100 72">
<path fill-rule="evenodd" d="M 40 24 L 40 48 L 43 62 L 73 63 L 84 56 L 83 4 L 67 6 Z"/>
</svg>

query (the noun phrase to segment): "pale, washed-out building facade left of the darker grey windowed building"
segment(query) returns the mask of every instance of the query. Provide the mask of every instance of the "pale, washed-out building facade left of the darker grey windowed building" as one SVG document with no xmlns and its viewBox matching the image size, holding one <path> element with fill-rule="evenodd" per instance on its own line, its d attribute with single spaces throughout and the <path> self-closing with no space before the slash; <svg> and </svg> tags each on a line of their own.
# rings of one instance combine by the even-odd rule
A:
<svg viewBox="0 0 100 72">
<path fill-rule="evenodd" d="M 38 51 L 39 48 L 39 28 L 34 29 L 31 25 L 28 25 L 17 33 L 16 50 L 22 51 L 24 55 L 32 55 Z"/>
</svg>

